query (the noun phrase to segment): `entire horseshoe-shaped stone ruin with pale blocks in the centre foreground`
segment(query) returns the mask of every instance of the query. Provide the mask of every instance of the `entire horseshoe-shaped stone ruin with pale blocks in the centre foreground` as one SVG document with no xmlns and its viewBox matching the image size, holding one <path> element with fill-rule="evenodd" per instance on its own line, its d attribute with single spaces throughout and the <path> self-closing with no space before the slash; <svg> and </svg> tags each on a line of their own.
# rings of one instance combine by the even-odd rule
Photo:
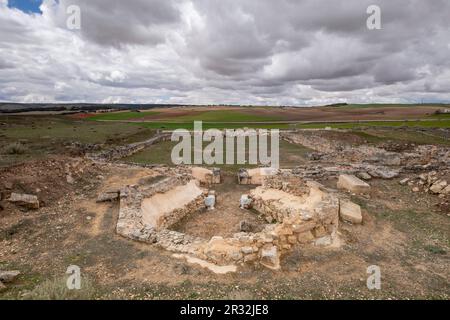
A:
<svg viewBox="0 0 450 320">
<path fill-rule="evenodd" d="M 226 268 L 224 272 L 243 264 L 277 270 L 281 257 L 294 246 L 337 241 L 339 199 L 335 193 L 280 170 L 252 169 L 246 171 L 247 180 L 242 180 L 244 171 L 239 172 L 238 182 L 255 184 L 255 188 L 242 196 L 241 207 L 265 218 L 267 224 L 261 232 L 202 239 L 171 230 L 184 217 L 211 208 L 211 196 L 215 201 L 215 193 L 208 187 L 220 183 L 220 170 L 192 168 L 159 177 L 156 182 L 122 188 L 117 233 L 155 244 L 191 262 Z"/>
</svg>

